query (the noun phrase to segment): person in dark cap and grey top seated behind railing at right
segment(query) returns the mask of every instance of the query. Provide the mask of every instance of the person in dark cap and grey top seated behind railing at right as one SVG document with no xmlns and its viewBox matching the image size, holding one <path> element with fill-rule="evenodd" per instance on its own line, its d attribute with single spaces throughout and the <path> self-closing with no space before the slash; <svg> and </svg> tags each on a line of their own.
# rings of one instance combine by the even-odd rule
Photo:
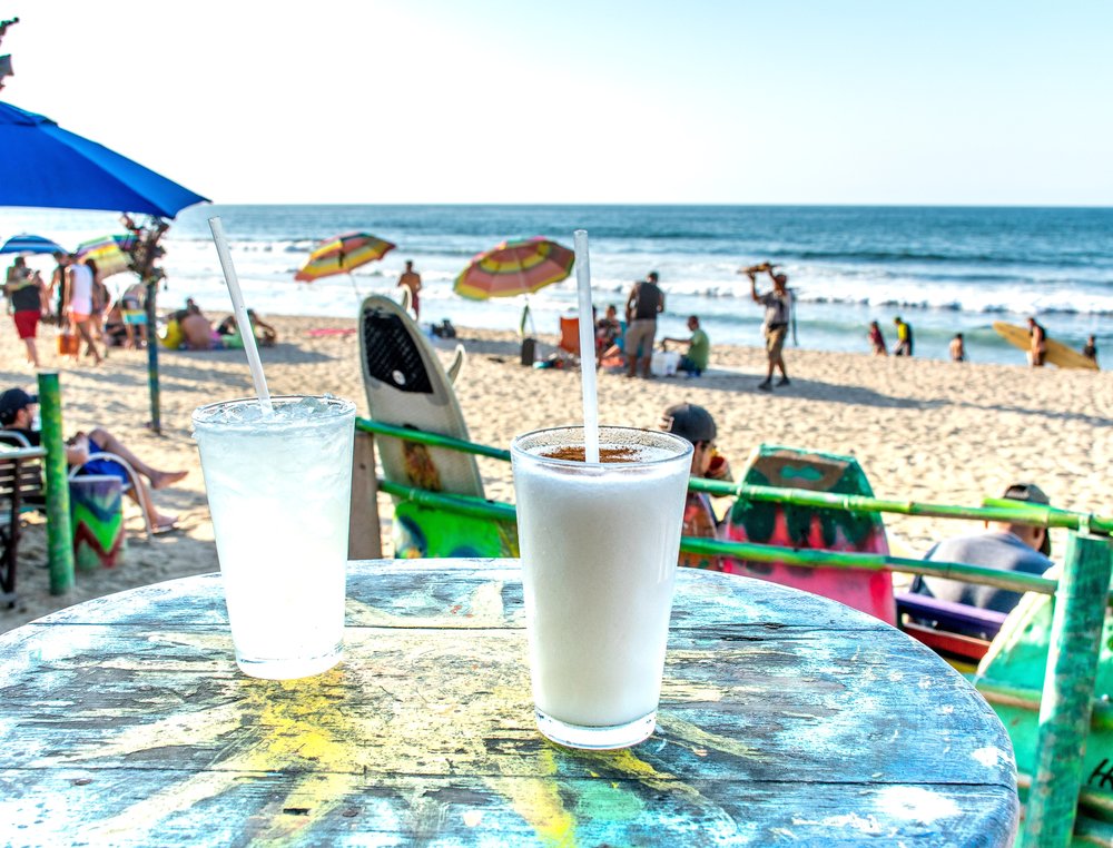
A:
<svg viewBox="0 0 1113 848">
<path fill-rule="evenodd" d="M 1040 486 L 1031 483 L 1014 483 L 1005 490 L 1005 499 L 1033 504 L 1051 503 Z M 936 562 L 964 562 L 1001 571 L 1018 571 L 1025 574 L 1043 574 L 1052 566 L 1051 536 L 1047 527 L 1008 522 L 986 522 L 985 531 L 969 535 L 945 539 L 924 556 Z M 965 603 L 983 610 L 1009 612 L 1021 602 L 1020 592 L 1007 589 L 965 583 L 944 578 L 918 576 L 912 591 L 930 595 L 940 601 Z"/>
</svg>

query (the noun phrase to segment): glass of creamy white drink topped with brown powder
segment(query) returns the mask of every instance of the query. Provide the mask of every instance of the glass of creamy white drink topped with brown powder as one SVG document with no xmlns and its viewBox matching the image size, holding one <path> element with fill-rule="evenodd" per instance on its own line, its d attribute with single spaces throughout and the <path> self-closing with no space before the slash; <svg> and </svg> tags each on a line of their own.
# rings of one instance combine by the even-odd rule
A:
<svg viewBox="0 0 1113 848">
<path fill-rule="evenodd" d="M 511 444 L 538 728 L 572 748 L 626 748 L 657 722 L 690 442 L 600 427 Z"/>
</svg>

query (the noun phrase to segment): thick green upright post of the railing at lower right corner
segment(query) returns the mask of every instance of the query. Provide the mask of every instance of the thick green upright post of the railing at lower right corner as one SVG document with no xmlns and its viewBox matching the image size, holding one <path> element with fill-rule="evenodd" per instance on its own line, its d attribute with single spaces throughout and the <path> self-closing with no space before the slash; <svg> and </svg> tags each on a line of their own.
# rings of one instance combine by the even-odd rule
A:
<svg viewBox="0 0 1113 848">
<path fill-rule="evenodd" d="M 1024 820 L 1026 847 L 1062 848 L 1074 834 L 1111 571 L 1113 546 L 1107 538 L 1070 534 L 1040 703 L 1036 769 Z"/>
</svg>

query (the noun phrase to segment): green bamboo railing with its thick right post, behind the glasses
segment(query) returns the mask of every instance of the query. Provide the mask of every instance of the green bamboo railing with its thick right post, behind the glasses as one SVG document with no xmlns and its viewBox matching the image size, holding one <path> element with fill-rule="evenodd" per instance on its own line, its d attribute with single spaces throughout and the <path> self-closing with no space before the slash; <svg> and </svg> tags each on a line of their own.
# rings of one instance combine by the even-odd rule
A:
<svg viewBox="0 0 1113 848">
<path fill-rule="evenodd" d="M 395 427 L 366 418 L 357 418 L 356 428 L 501 461 L 510 460 L 509 451 L 406 427 Z M 382 491 L 388 494 L 433 509 L 494 521 L 513 521 L 516 515 L 511 504 L 485 501 L 481 497 L 429 492 L 382 480 L 378 483 Z M 1105 822 L 1078 817 L 1080 807 L 1086 812 L 1093 810 L 1109 812 L 1113 809 L 1113 803 L 1083 787 L 1081 753 L 1095 722 L 1104 728 L 1113 723 L 1113 716 L 1107 704 L 1095 701 L 1093 697 L 1105 607 L 1110 602 L 1113 544 L 1107 534 L 1113 531 L 1113 519 L 1051 506 L 1018 504 L 1002 499 L 987 500 L 983 506 L 952 506 L 706 480 L 691 481 L 690 489 L 715 495 L 816 509 L 1004 521 L 1074 531 L 1068 536 L 1060 580 L 1001 572 L 958 562 L 928 562 L 881 554 L 795 550 L 691 536 L 683 536 L 680 548 L 682 551 L 705 555 L 728 555 L 742 560 L 784 562 L 811 568 L 823 565 L 902 571 L 952 578 L 1020 592 L 1054 594 L 1056 603 L 1043 692 L 986 687 L 985 696 L 991 701 L 1013 703 L 1040 711 L 1036 775 L 1034 777 L 1021 775 L 1018 780 L 1023 783 L 1022 788 L 1027 790 L 1024 846 L 1066 848 L 1074 837 L 1089 838 L 1096 835 L 1101 838 L 1113 832 Z M 1094 532 L 1105 535 L 1092 535 Z"/>
</svg>

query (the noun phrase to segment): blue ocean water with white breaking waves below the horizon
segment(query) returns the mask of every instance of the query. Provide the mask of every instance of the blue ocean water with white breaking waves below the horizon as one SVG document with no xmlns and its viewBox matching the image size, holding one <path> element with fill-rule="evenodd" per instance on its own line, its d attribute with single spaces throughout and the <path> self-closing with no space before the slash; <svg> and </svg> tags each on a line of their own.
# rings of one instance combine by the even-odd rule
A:
<svg viewBox="0 0 1113 848">
<path fill-rule="evenodd" d="M 465 300 L 452 282 L 471 257 L 516 236 L 571 246 L 591 238 L 594 299 L 621 306 L 631 283 L 661 275 L 660 335 L 686 337 L 697 314 L 716 343 L 760 345 L 761 309 L 738 268 L 774 262 L 797 298 L 800 347 L 867 352 L 878 321 L 892 347 L 893 318 L 913 325 L 916 355 L 946 358 L 956 332 L 975 362 L 1023 364 L 994 321 L 1036 315 L 1052 338 L 1080 348 L 1090 334 L 1113 362 L 1113 209 L 817 206 L 198 206 L 166 238 L 160 307 L 194 297 L 230 310 L 207 219 L 219 215 L 248 305 L 262 314 L 354 317 L 361 295 L 395 290 L 405 259 L 424 283 L 422 319 L 513 329 L 524 298 Z M 30 231 L 72 247 L 119 231 L 117 216 L 0 209 L 0 237 Z M 306 285 L 294 273 L 318 239 L 364 230 L 394 241 L 378 263 Z M 49 260 L 41 260 L 47 267 Z M 116 278 L 122 282 L 120 278 Z M 759 277 L 768 287 L 768 277 Z M 538 332 L 555 333 L 575 305 L 574 275 L 530 297 Z M 791 346 L 788 355 L 791 356 Z"/>
</svg>

